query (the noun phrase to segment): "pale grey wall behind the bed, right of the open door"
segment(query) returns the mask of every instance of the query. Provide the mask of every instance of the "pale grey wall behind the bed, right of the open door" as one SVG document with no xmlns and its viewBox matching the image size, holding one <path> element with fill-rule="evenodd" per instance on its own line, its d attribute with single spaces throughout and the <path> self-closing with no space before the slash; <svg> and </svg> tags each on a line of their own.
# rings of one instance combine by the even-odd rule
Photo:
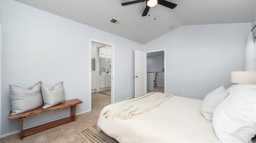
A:
<svg viewBox="0 0 256 143">
<path fill-rule="evenodd" d="M 251 27 L 252 23 L 182 26 L 147 43 L 144 50 L 166 49 L 167 93 L 203 99 L 221 85 L 228 88 L 230 72 L 244 68 Z"/>
</svg>

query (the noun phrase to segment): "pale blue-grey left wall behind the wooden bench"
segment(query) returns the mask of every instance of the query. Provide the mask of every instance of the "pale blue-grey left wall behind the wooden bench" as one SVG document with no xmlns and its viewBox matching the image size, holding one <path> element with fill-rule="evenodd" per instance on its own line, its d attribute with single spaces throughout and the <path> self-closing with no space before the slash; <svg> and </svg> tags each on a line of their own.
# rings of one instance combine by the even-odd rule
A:
<svg viewBox="0 0 256 143">
<path fill-rule="evenodd" d="M 89 110 L 90 38 L 115 44 L 115 101 L 134 96 L 134 49 L 143 51 L 143 45 L 12 0 L 0 1 L 0 21 L 1 135 L 20 130 L 19 119 L 8 120 L 8 84 L 27 88 L 39 81 L 47 86 L 63 81 L 66 100 L 83 101 L 76 112 Z M 24 128 L 63 118 L 68 111 L 63 108 L 50 115 L 44 112 L 40 117 L 28 116 Z"/>
</svg>

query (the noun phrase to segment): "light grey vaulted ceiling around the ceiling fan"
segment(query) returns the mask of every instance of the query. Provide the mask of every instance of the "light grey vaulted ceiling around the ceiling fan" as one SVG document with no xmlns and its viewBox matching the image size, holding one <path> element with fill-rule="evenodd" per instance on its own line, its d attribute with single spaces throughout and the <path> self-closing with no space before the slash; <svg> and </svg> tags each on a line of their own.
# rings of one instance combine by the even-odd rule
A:
<svg viewBox="0 0 256 143">
<path fill-rule="evenodd" d="M 170 9 L 150 8 L 145 2 L 121 6 L 132 0 L 17 0 L 23 4 L 146 44 L 182 25 L 244 23 L 256 20 L 256 0 L 167 0 Z M 116 18 L 123 23 L 110 22 Z M 156 18 L 156 20 L 154 20 Z M 170 28 L 174 26 L 174 28 Z"/>
</svg>

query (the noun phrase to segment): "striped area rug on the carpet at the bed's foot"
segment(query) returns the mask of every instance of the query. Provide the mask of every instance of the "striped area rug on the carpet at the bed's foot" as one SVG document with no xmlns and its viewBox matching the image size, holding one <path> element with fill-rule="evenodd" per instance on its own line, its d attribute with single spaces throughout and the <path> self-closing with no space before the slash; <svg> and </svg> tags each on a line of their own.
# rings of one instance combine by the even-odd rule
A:
<svg viewBox="0 0 256 143">
<path fill-rule="evenodd" d="M 118 143 L 102 131 L 99 132 L 96 125 L 81 131 L 79 134 L 89 143 Z"/>
</svg>

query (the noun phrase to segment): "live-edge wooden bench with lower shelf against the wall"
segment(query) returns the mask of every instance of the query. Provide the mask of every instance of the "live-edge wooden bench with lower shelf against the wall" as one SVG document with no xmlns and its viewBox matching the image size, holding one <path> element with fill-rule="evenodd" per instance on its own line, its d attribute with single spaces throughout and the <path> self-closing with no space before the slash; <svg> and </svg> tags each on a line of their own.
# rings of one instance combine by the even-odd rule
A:
<svg viewBox="0 0 256 143">
<path fill-rule="evenodd" d="M 20 114 L 16 114 L 16 115 L 10 115 L 12 113 L 10 111 L 8 119 L 16 119 L 16 118 L 21 119 L 21 121 L 20 121 L 20 139 L 23 139 L 23 137 L 26 137 L 26 136 L 31 135 L 33 133 L 37 133 L 37 132 L 43 131 L 45 129 L 50 129 L 52 127 L 55 127 L 57 125 L 61 125 L 61 124 L 64 124 L 64 123 L 68 123 L 70 121 L 76 121 L 76 105 L 81 104 L 81 103 L 83 103 L 83 102 L 79 99 L 72 99 L 72 100 L 66 100 L 64 103 L 60 103 L 58 105 L 55 105 L 55 106 L 52 106 L 52 107 L 49 107 L 49 108 L 46 108 L 46 109 L 42 109 L 42 107 L 39 107 L 39 108 L 30 110 L 30 111 L 27 111 L 27 112 L 23 112 L 23 113 L 20 113 Z M 38 113 L 49 111 L 49 110 L 65 108 L 65 107 L 70 107 L 70 116 L 69 117 L 58 119 L 58 120 L 55 120 L 55 121 L 51 121 L 51 122 L 48 122 L 48 123 L 44 123 L 42 125 L 38 125 L 38 126 L 31 127 L 31 128 L 23 130 L 23 118 L 25 118 L 26 116 L 33 115 L 33 114 L 38 114 Z"/>
</svg>

